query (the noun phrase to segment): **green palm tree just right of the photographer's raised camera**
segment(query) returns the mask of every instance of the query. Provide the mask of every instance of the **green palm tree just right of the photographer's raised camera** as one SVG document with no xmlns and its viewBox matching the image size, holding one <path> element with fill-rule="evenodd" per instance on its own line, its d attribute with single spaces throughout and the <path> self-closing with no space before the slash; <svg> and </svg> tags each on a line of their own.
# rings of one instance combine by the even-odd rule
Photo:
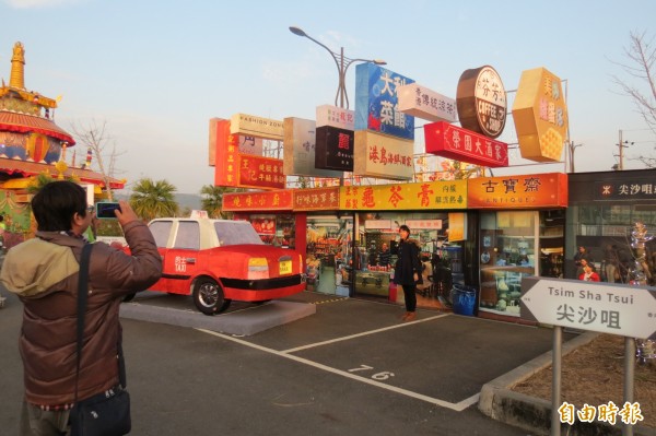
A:
<svg viewBox="0 0 656 436">
<path fill-rule="evenodd" d="M 130 207 L 143 221 L 176 216 L 179 205 L 175 201 L 176 187 L 166 180 L 150 178 L 137 180 L 130 195 Z"/>
</svg>

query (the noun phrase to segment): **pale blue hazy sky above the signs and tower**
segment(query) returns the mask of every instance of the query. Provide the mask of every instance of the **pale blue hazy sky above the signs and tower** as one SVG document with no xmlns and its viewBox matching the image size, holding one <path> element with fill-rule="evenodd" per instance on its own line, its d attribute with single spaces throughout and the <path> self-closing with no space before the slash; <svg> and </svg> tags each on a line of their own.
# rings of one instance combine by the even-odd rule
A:
<svg viewBox="0 0 656 436">
<path fill-rule="evenodd" d="M 656 156 L 656 137 L 613 82 L 649 92 L 618 62 L 629 62 L 632 32 L 656 44 L 653 0 L 0 0 L 0 78 L 9 83 L 22 42 L 25 87 L 61 95 L 55 121 L 70 133 L 106 123 L 127 191 L 144 177 L 181 193 L 212 185 L 211 118 L 315 119 L 316 106 L 335 103 L 330 54 L 290 26 L 350 58 L 383 59 L 450 98 L 465 70 L 492 66 L 512 93 L 522 71 L 544 67 L 564 81 L 577 173 L 610 170 L 620 130 L 633 142 L 623 149 L 625 169 L 644 167 L 639 155 Z M 351 102 L 354 87 L 351 67 Z M 499 140 L 516 143 L 511 116 Z M 418 134 L 415 153 L 423 146 Z M 565 172 L 515 149 L 509 164 L 494 175 Z"/>
</svg>

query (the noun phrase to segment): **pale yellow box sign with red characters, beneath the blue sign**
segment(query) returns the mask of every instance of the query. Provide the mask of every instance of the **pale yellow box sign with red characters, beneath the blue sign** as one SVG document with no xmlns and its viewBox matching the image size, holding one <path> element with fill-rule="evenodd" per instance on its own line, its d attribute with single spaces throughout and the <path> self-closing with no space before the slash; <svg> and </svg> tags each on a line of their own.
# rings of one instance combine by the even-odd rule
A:
<svg viewBox="0 0 656 436">
<path fill-rule="evenodd" d="M 413 141 L 358 130 L 353 174 L 396 180 L 412 179 Z"/>
</svg>

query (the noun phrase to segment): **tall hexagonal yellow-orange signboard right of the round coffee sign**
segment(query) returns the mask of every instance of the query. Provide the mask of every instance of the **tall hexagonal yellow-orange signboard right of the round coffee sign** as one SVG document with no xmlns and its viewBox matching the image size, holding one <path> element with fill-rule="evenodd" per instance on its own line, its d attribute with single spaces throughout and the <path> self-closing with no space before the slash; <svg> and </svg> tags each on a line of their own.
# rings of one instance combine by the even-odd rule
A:
<svg viewBox="0 0 656 436">
<path fill-rule="evenodd" d="M 559 78 L 544 68 L 522 72 L 513 119 L 522 157 L 560 161 L 567 135 L 567 106 Z"/>
</svg>

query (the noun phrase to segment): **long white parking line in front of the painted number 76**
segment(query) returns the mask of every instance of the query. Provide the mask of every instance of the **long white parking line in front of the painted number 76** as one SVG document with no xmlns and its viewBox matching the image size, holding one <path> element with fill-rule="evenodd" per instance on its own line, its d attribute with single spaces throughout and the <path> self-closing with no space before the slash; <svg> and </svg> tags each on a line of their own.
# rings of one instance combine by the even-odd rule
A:
<svg viewBox="0 0 656 436">
<path fill-rule="evenodd" d="M 438 317 L 433 317 L 433 318 L 438 318 Z M 426 321 L 429 319 L 430 318 L 426 318 L 426 319 L 420 320 L 420 321 Z M 415 322 L 420 322 L 420 321 L 415 321 Z M 406 325 L 408 325 L 408 323 L 406 323 Z M 316 362 L 313 362 L 313 361 L 308 361 L 307 358 L 298 357 L 298 356 L 295 356 L 293 354 L 288 354 L 289 352 L 280 352 L 280 351 L 277 351 L 277 350 L 268 349 L 266 346 L 254 344 L 254 343 L 250 343 L 248 341 L 244 341 L 242 339 L 233 338 L 233 337 L 230 337 L 230 335 L 223 334 L 223 333 L 218 333 L 218 332 L 211 331 L 211 330 L 206 330 L 206 329 L 196 329 L 196 330 L 202 331 L 203 333 L 212 334 L 214 337 L 219 337 L 221 339 L 225 339 L 227 341 L 236 342 L 236 343 L 242 344 L 242 345 L 250 346 L 251 349 L 256 349 L 256 350 L 262 351 L 265 353 L 274 354 L 274 355 L 280 356 L 280 357 L 289 358 L 290 361 L 294 361 L 294 362 L 298 362 L 298 363 L 302 363 L 302 364 L 305 364 L 305 365 L 309 365 L 309 366 L 313 366 L 313 367 L 318 368 L 318 369 L 323 369 L 323 370 L 328 372 L 328 373 L 337 374 L 339 376 L 342 376 L 342 377 L 345 377 L 345 378 L 350 378 L 352 380 L 361 381 L 361 382 L 364 382 L 364 384 L 367 384 L 367 385 L 371 385 L 371 386 L 375 386 L 375 387 L 378 387 L 378 388 L 382 388 L 382 389 L 386 389 L 386 390 L 389 390 L 389 391 L 393 391 L 393 392 L 396 392 L 396 393 L 400 393 L 400 394 L 406 396 L 406 397 L 411 397 L 411 398 L 414 398 L 417 400 L 422 400 L 422 401 L 425 401 L 425 402 L 438 405 L 441 408 L 450 409 L 450 410 L 456 411 L 456 412 L 461 412 L 465 409 L 469 408 L 471 404 L 475 404 L 479 400 L 479 397 L 480 397 L 480 393 L 477 393 L 476 396 L 469 397 L 469 398 L 467 398 L 467 399 L 465 399 L 465 400 L 462 400 L 460 402 L 452 403 L 452 402 L 448 402 L 448 401 L 440 400 L 437 398 L 433 398 L 433 397 L 424 396 L 422 393 L 413 392 L 413 391 L 410 391 L 410 390 L 407 390 L 407 389 L 401 389 L 401 388 L 397 388 L 397 387 L 394 387 L 394 386 L 389 386 L 389 385 L 383 384 L 380 381 L 372 380 L 371 378 L 361 377 L 361 376 L 358 376 L 355 374 L 348 373 L 345 370 L 332 368 L 332 367 L 327 366 L 327 365 L 323 365 L 323 364 L 319 364 L 319 363 L 316 363 Z M 383 329 L 383 330 L 386 330 L 386 329 Z"/>
</svg>

